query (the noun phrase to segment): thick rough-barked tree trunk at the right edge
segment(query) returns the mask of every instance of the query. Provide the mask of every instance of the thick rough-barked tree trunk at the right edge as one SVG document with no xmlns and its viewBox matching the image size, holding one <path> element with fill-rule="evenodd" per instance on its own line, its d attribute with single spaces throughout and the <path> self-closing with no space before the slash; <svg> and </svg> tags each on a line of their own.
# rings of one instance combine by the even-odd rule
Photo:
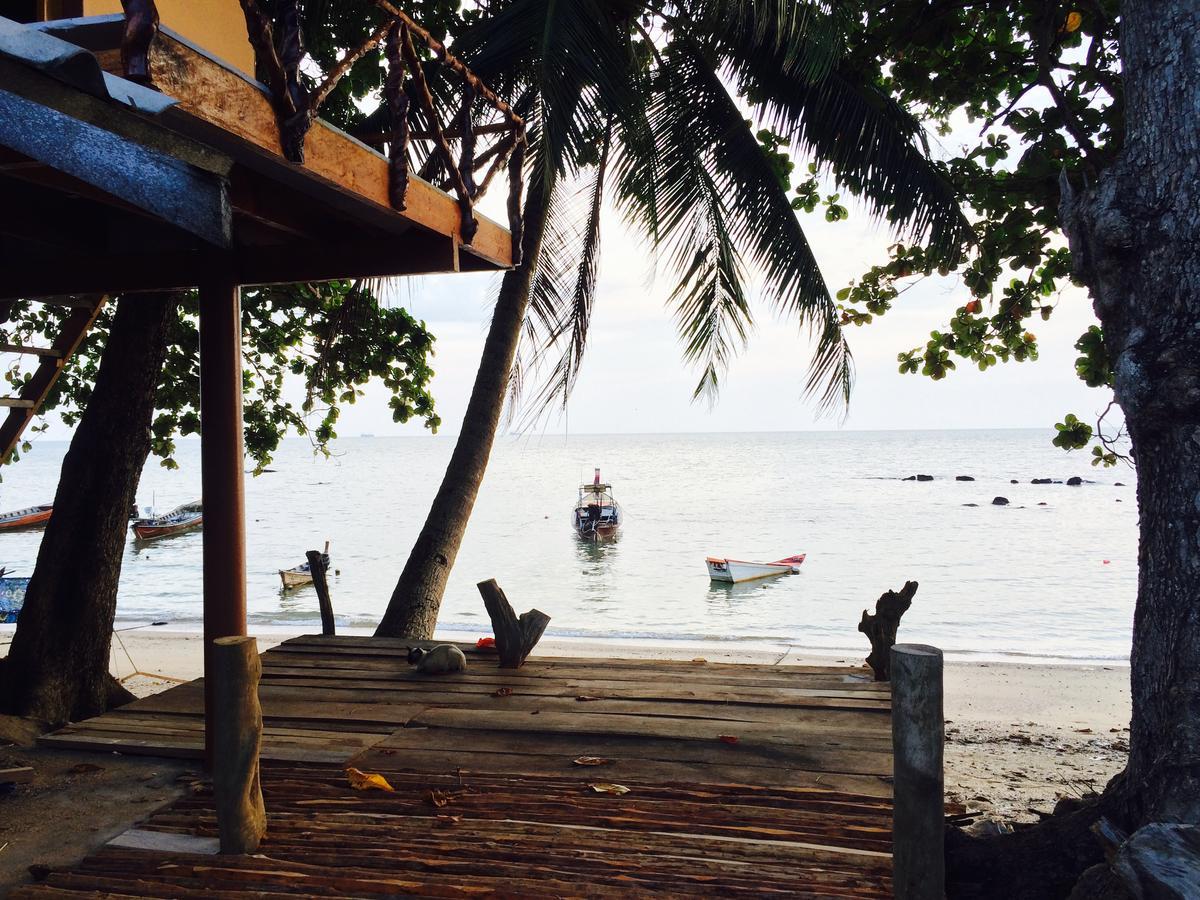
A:
<svg viewBox="0 0 1200 900">
<path fill-rule="evenodd" d="M 1064 192 L 1138 464 L 1127 830 L 1200 822 L 1200 6 L 1124 0 L 1126 142 Z"/>
</svg>

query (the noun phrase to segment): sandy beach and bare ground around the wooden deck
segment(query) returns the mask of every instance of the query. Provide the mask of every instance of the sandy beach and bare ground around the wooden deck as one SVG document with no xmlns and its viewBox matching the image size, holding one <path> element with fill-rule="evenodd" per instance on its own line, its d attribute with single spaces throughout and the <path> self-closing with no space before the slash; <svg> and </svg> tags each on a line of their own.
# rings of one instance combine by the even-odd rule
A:
<svg viewBox="0 0 1200 900">
<path fill-rule="evenodd" d="M 287 632 L 264 632 L 265 650 Z M 134 694 L 166 690 L 202 670 L 194 632 L 134 629 L 113 643 L 112 671 Z M 458 636 L 461 637 L 461 636 Z M 0 631 L 6 652 L 12 629 Z M 768 665 L 863 665 L 848 655 L 744 649 L 736 644 L 608 643 L 545 640 L 542 655 L 696 659 Z M 1002 821 L 1034 821 L 1062 797 L 1100 790 L 1124 764 L 1129 671 L 1123 666 L 948 662 L 946 793 L 968 811 Z M 19 720 L 18 720 L 19 721 Z M 30 746 L 0 718 L 0 766 L 31 764 L 37 779 L 0 799 L 0 890 L 28 877 L 31 864 L 61 865 L 120 833 L 186 791 L 186 761 L 52 751 Z"/>
</svg>

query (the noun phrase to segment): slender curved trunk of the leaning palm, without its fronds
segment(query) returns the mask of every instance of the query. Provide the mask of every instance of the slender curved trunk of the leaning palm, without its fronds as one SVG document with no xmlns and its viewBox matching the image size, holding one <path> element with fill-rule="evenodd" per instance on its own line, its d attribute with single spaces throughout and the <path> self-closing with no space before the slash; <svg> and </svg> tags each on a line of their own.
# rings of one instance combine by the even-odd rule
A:
<svg viewBox="0 0 1200 900">
<path fill-rule="evenodd" d="M 504 274 L 454 455 L 376 630 L 377 635 L 425 641 L 433 637 L 446 578 L 475 506 L 504 410 L 509 373 L 521 340 L 521 323 L 546 230 L 546 196 L 542 188 L 540 179 L 535 179 L 529 187 L 521 265 Z"/>
</svg>

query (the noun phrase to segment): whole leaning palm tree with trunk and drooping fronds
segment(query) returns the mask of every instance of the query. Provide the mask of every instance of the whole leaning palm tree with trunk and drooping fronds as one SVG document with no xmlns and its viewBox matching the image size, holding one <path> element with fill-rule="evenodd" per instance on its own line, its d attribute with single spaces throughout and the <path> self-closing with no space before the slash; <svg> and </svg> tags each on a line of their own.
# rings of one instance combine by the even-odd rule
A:
<svg viewBox="0 0 1200 900">
<path fill-rule="evenodd" d="M 797 0 L 510 0 L 460 37 L 456 52 L 530 125 L 524 253 L 504 276 L 462 433 L 377 634 L 432 636 L 506 396 L 539 368 L 533 409 L 569 396 L 606 193 L 676 277 L 697 396 L 715 394 L 745 343 L 752 274 L 815 340 L 806 392 L 836 406 L 853 380 L 838 306 L 755 119 L 872 214 L 956 259 L 970 227 L 919 125 L 839 68 L 840 31 L 835 14 Z"/>
</svg>

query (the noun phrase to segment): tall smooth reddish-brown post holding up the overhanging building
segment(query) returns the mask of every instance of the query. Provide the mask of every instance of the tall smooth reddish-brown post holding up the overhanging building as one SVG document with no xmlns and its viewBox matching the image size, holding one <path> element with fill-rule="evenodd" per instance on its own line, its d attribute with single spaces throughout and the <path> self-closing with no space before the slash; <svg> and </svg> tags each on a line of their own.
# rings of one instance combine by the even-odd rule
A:
<svg viewBox="0 0 1200 900">
<path fill-rule="evenodd" d="M 230 277 L 200 284 L 200 481 L 204 491 L 204 749 L 211 767 L 212 641 L 246 634 L 241 299 Z"/>
</svg>

